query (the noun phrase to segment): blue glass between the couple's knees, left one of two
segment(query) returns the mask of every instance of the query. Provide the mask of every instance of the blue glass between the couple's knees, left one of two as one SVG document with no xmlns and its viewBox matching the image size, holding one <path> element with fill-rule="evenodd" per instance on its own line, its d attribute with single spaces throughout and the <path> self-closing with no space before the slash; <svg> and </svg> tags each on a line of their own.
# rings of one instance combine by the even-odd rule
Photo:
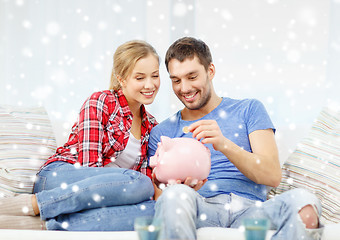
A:
<svg viewBox="0 0 340 240">
<path fill-rule="evenodd" d="M 160 219 L 146 216 L 137 217 L 134 227 L 139 240 L 157 240 L 160 237 L 162 225 Z"/>
</svg>

